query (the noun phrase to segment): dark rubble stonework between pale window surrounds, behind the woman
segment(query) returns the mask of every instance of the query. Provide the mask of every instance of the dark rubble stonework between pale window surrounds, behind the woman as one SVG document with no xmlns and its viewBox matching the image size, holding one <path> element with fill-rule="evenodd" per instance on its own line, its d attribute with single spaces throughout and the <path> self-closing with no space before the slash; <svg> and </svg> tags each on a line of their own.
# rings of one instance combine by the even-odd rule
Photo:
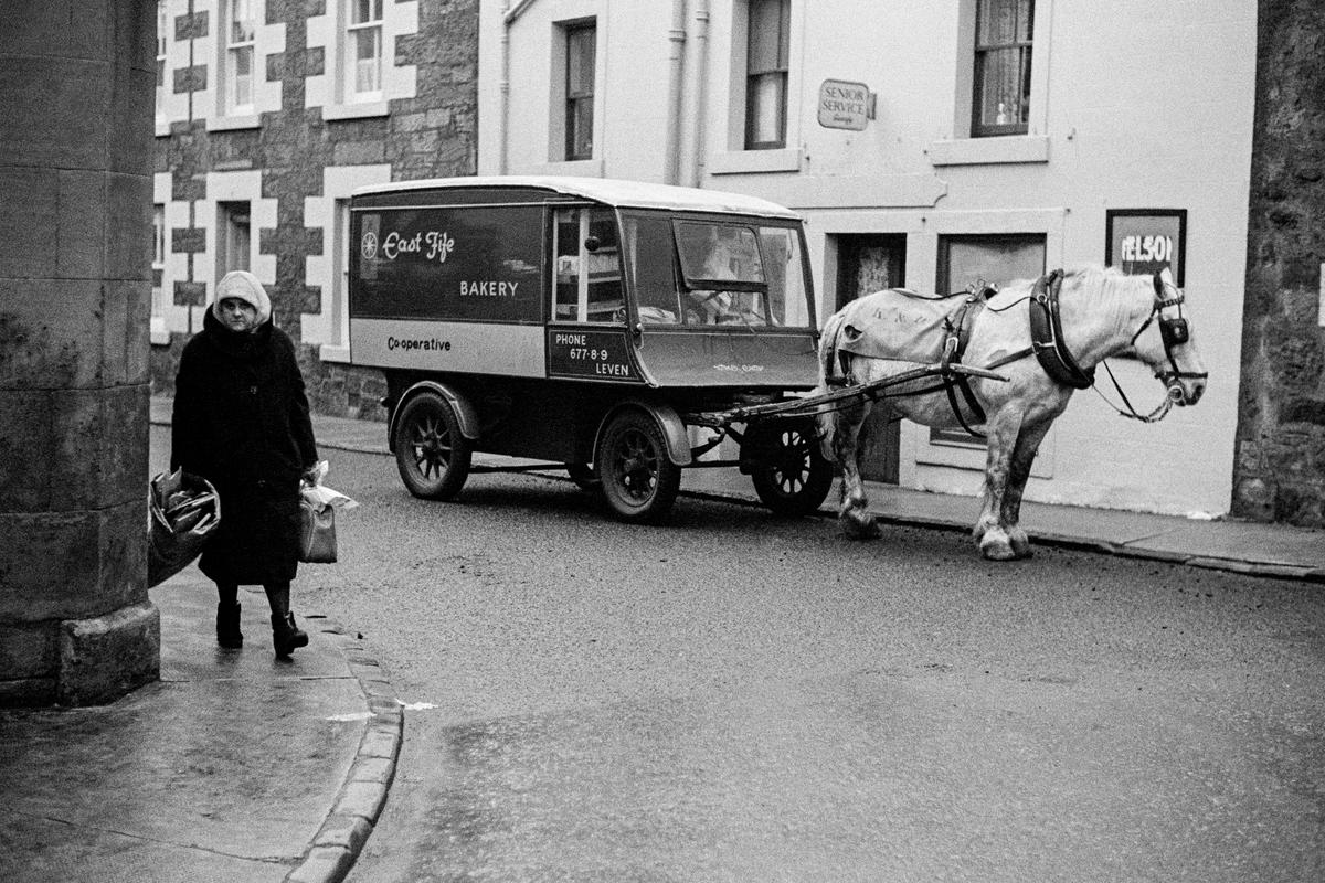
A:
<svg viewBox="0 0 1325 883">
<path fill-rule="evenodd" d="M 281 110 L 262 113 L 257 128 L 208 131 L 197 110 L 188 120 L 171 123 L 168 136 L 156 139 L 158 173 L 171 175 L 171 199 L 201 204 L 208 199 L 208 172 L 258 171 L 264 200 L 276 200 L 276 226 L 253 225 L 262 256 L 276 258 L 272 295 L 276 322 L 299 343 L 301 314 L 323 310 L 323 291 L 309 285 L 306 261 L 323 253 L 323 230 L 306 225 L 305 199 L 322 196 L 329 167 L 384 164 L 391 180 L 417 180 L 473 175 L 477 156 L 478 1 L 420 0 L 419 28 L 395 42 L 395 65 L 416 69 L 415 94 L 388 102 L 379 116 L 323 119 L 322 107 L 305 107 L 305 85 L 325 74 L 326 50 L 309 44 L 310 16 L 321 4 L 293 0 L 266 4 L 266 24 L 285 25 L 285 50 L 268 57 L 268 81 L 281 83 Z M 176 38 L 205 40 L 215 29 L 207 16 L 180 17 Z M 176 94 L 207 87 L 207 70 L 175 77 Z M 253 195 L 258 199 L 258 195 Z M 207 248 L 207 220 L 192 212 L 195 226 L 170 230 L 172 254 L 200 254 Z M 188 261 L 188 278 L 171 283 L 178 306 L 208 301 L 215 275 L 203 261 Z M 254 270 L 256 271 L 256 270 Z M 260 274 L 261 278 L 261 274 Z M 196 331 L 196 326 L 192 328 Z M 189 332 L 171 335 L 152 347 L 151 379 L 155 393 L 174 391 L 179 353 Z M 325 414 L 380 418 L 378 400 L 386 395 L 380 372 L 322 361 L 319 347 L 299 347 L 301 367 L 313 408 Z"/>
</svg>

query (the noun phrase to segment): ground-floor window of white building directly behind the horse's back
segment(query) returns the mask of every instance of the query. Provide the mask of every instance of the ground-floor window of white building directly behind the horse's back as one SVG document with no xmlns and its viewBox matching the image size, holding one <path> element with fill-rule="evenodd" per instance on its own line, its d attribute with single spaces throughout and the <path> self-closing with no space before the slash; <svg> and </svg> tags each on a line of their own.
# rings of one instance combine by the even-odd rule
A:
<svg viewBox="0 0 1325 883">
<path fill-rule="evenodd" d="M 978 282 L 1003 285 L 1044 275 L 1043 233 L 1006 236 L 941 236 L 938 238 L 939 294 L 965 291 Z M 930 429 L 931 443 L 984 447 L 983 440 L 961 429 Z"/>
</svg>

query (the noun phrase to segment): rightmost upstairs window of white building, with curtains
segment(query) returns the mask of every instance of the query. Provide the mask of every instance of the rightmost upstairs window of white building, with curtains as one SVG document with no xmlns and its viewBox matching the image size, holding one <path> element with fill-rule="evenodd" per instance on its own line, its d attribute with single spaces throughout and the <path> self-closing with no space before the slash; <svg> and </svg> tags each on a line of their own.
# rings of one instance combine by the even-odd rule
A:
<svg viewBox="0 0 1325 883">
<path fill-rule="evenodd" d="M 978 0 L 973 138 L 1027 134 L 1034 21 L 1035 0 Z"/>
</svg>

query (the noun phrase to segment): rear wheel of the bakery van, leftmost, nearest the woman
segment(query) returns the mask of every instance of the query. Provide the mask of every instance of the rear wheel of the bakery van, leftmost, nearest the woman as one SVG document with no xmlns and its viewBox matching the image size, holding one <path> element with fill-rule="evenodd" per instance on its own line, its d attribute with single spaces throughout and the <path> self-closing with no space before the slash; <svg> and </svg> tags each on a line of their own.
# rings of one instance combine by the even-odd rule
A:
<svg viewBox="0 0 1325 883">
<path fill-rule="evenodd" d="M 450 499 L 469 478 L 473 445 L 460 434 L 450 404 L 423 392 L 405 404 L 396 422 L 396 467 L 409 492 L 424 499 Z"/>
</svg>

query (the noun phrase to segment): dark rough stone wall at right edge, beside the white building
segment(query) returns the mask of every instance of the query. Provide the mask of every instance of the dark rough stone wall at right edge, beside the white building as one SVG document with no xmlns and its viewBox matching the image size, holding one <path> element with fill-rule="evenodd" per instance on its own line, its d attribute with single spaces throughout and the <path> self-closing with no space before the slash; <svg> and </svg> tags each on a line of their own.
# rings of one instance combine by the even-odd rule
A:
<svg viewBox="0 0 1325 883">
<path fill-rule="evenodd" d="M 1234 515 L 1325 527 L 1325 7 L 1261 0 Z"/>
</svg>

